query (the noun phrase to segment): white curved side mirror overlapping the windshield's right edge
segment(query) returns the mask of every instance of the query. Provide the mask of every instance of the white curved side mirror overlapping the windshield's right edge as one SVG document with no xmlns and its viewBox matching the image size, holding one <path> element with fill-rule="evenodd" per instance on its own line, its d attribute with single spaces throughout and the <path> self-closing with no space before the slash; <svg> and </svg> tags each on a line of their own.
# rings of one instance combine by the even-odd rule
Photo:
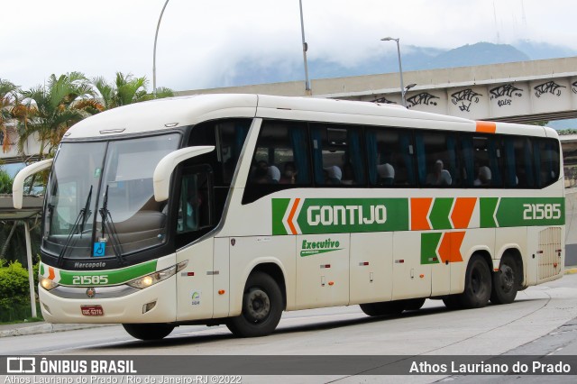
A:
<svg viewBox="0 0 577 384">
<path fill-rule="evenodd" d="M 154 200 L 157 202 L 169 199 L 170 176 L 172 171 L 184 160 L 204 155 L 215 151 L 214 145 L 202 145 L 197 147 L 182 148 L 178 151 L 170 152 L 160 159 L 154 174 L 152 175 L 152 185 L 154 187 Z"/>
</svg>

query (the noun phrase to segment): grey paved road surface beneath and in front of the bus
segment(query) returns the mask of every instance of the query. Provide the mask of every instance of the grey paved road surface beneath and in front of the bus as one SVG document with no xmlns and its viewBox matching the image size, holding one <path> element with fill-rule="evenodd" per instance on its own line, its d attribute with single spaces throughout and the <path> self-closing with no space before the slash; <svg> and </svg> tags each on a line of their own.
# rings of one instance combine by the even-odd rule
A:
<svg viewBox="0 0 577 384">
<path fill-rule="evenodd" d="M 502 355 L 577 354 L 577 274 L 519 292 L 507 306 L 449 311 L 427 300 L 418 311 L 371 318 L 358 306 L 289 312 L 274 334 L 236 339 L 224 326 L 182 326 L 142 342 L 119 325 L 0 339 L 0 352 L 66 355 Z M 505 377 L 514 379 L 515 377 Z M 452 376 L 285 376 L 281 382 L 479 382 Z M 484 380 L 498 379 L 486 377 Z M 529 381 L 536 377 L 527 378 Z M 565 382 L 567 377 L 551 377 Z M 570 378 L 575 382 L 575 377 Z M 266 382 L 256 376 L 243 382 Z M 469 381 L 472 380 L 472 381 Z M 503 381 L 501 378 L 500 381 Z M 499 381 L 499 382 L 500 382 Z M 533 381 L 542 382 L 543 380 Z M 497 382 L 497 381 L 495 381 Z"/>
</svg>

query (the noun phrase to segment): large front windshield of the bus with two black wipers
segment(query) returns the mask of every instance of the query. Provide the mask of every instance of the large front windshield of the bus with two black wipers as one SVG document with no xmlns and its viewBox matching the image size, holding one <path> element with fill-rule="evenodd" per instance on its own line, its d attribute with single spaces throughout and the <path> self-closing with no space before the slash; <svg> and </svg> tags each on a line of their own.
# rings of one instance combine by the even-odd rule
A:
<svg viewBox="0 0 577 384">
<path fill-rule="evenodd" d="M 59 259 L 122 258 L 166 238 L 152 173 L 179 134 L 111 142 L 64 142 L 47 187 L 42 249 Z"/>
</svg>

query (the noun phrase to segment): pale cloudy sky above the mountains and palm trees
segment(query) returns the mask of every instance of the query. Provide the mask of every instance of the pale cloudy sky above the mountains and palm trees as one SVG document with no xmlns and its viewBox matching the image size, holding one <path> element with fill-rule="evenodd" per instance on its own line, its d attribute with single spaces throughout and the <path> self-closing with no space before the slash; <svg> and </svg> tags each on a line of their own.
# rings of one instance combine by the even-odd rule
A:
<svg viewBox="0 0 577 384">
<path fill-rule="evenodd" d="M 0 78 L 28 89 L 50 74 L 146 76 L 165 0 L 0 0 Z M 411 46 L 548 42 L 577 49 L 570 0 L 302 0 L 309 60 L 353 66 Z M 169 0 L 158 87 L 227 87 L 243 62 L 302 65 L 298 0 Z M 303 69 L 304 78 L 304 69 Z"/>
</svg>

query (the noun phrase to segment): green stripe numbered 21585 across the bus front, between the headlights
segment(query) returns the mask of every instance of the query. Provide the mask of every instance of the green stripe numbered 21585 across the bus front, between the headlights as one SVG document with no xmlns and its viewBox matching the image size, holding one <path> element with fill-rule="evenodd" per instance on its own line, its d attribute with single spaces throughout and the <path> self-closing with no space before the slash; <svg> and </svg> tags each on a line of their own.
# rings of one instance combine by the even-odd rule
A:
<svg viewBox="0 0 577 384">
<path fill-rule="evenodd" d="M 62 285 L 117 285 L 125 283 L 141 276 L 148 275 L 156 271 L 156 260 L 143 262 L 142 264 L 133 265 L 131 267 L 122 268 L 120 270 L 60 270 L 60 281 Z M 78 280 L 82 281 L 83 276 L 98 278 L 92 279 L 93 283 L 78 284 Z M 80 277 L 80 279 L 78 279 Z M 76 279 L 75 279 L 76 278 Z M 105 279 L 101 279 L 105 278 Z M 85 279 L 86 281 L 86 279 Z M 106 281 L 106 282 L 104 282 Z M 101 283 L 99 283 L 101 282 Z M 99 284 L 98 284 L 99 283 Z"/>
</svg>

